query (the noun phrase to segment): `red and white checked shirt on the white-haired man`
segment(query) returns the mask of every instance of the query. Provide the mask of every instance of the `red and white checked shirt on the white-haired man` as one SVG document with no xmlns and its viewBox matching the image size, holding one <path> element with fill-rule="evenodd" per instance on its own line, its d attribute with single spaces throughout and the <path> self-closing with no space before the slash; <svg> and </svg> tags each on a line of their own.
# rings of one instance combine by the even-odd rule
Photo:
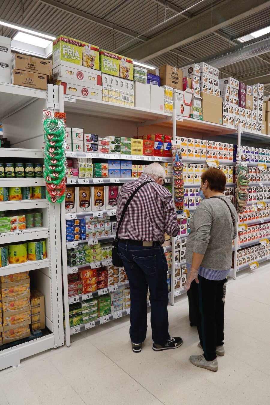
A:
<svg viewBox="0 0 270 405">
<path fill-rule="evenodd" d="M 160 241 L 164 232 L 175 236 L 179 232 L 177 215 L 172 205 L 172 195 L 149 175 L 125 183 L 117 196 L 117 225 L 121 213 L 132 192 L 145 181 L 147 183 L 135 194 L 123 217 L 118 238 L 136 241 Z"/>
</svg>

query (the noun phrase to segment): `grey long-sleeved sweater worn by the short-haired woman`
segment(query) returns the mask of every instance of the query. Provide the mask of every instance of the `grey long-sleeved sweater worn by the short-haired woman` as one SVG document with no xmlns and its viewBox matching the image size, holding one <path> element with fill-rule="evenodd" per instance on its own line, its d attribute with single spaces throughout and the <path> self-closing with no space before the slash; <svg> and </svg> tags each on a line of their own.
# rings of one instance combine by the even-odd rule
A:
<svg viewBox="0 0 270 405">
<path fill-rule="evenodd" d="M 190 220 L 190 233 L 187 239 L 186 261 L 192 262 L 193 252 L 204 254 L 201 266 L 207 269 L 227 270 L 232 266 L 232 240 L 237 234 L 238 215 L 234 205 L 226 196 L 221 196 L 229 208 L 219 198 L 203 200 Z"/>
</svg>

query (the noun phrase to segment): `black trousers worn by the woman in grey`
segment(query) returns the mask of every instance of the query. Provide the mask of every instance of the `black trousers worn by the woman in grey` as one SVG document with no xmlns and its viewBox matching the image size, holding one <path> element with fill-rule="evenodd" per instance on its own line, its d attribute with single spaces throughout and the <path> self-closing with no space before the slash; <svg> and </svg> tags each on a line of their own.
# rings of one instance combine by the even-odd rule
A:
<svg viewBox="0 0 270 405">
<path fill-rule="evenodd" d="M 217 346 L 224 344 L 224 303 L 226 279 L 208 280 L 198 276 L 200 281 L 192 281 L 190 302 L 196 318 L 200 344 L 206 360 L 214 360 Z"/>
</svg>

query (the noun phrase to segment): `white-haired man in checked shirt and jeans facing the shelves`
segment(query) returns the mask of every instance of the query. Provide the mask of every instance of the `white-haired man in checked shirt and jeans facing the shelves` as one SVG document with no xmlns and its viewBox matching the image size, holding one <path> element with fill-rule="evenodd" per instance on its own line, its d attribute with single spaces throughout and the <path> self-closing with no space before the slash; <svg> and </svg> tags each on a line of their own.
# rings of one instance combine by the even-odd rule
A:
<svg viewBox="0 0 270 405">
<path fill-rule="evenodd" d="M 164 232 L 176 236 L 179 224 L 170 192 L 163 187 L 164 168 L 153 163 L 139 179 L 125 183 L 117 197 L 117 221 L 128 198 L 134 195 L 119 228 L 118 254 L 130 282 L 130 338 L 132 350 L 141 352 L 147 331 L 147 291 L 150 291 L 153 350 L 175 349 L 181 337 L 168 333 L 168 264 Z"/>
</svg>

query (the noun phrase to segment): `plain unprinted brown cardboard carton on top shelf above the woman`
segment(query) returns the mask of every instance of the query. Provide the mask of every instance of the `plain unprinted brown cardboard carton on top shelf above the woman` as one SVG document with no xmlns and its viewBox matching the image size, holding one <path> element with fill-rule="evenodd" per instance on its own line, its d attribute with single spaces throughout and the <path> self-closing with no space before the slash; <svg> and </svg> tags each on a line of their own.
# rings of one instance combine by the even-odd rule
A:
<svg viewBox="0 0 270 405">
<path fill-rule="evenodd" d="M 201 96 L 203 120 L 222 125 L 222 98 L 203 92 Z"/>
</svg>

